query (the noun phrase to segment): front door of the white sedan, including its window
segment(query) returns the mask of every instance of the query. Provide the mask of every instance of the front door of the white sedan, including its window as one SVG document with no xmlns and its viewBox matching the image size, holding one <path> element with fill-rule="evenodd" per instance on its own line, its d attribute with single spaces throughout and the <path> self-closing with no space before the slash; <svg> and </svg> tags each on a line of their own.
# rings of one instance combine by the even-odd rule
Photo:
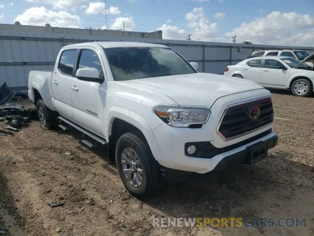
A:
<svg viewBox="0 0 314 236">
<path fill-rule="evenodd" d="M 286 87 L 289 70 L 278 69 L 278 66 L 284 66 L 284 64 L 275 59 L 265 59 L 264 66 L 262 68 L 262 86 L 278 88 Z M 284 67 L 287 68 L 286 66 Z"/>
</svg>

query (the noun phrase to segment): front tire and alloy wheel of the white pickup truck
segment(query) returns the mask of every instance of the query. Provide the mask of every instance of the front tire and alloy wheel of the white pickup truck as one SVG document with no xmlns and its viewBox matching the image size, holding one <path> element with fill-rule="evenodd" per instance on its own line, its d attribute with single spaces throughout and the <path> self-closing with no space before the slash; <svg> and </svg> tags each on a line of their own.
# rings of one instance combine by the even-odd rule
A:
<svg viewBox="0 0 314 236">
<path fill-rule="evenodd" d="M 154 159 L 145 138 L 142 137 L 143 135 L 140 132 L 133 131 L 125 133 L 119 138 L 116 144 L 116 166 L 127 191 L 134 197 L 145 200 L 160 194 L 162 179 L 160 166 Z M 130 156 L 132 158 L 133 151 L 135 155 L 133 155 L 133 167 L 131 167 L 132 161 L 127 162 L 126 160 Z M 122 157 L 122 152 L 123 156 L 127 156 L 127 158 Z M 127 153 L 131 155 L 127 155 Z M 136 156 L 138 158 L 136 158 Z M 128 160 L 131 160 L 131 158 Z M 136 160 L 139 160 L 139 162 Z M 123 166 L 122 161 L 125 163 Z M 136 163 L 140 163 L 140 165 L 134 163 L 135 161 Z M 128 163 L 130 163 L 130 165 Z M 126 174 L 131 177 L 129 180 L 124 174 L 123 169 L 129 170 L 129 174 Z M 140 173 L 142 173 L 142 181 Z M 134 185 L 129 182 L 132 181 L 133 178 L 135 178 Z M 136 181 L 136 179 L 138 181 Z"/>
</svg>

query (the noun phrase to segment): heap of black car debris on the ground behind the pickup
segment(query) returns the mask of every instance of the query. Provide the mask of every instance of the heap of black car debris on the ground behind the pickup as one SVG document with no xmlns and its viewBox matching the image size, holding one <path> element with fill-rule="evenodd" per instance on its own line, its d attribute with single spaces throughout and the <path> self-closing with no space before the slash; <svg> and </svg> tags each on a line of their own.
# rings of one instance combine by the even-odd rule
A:
<svg viewBox="0 0 314 236">
<path fill-rule="evenodd" d="M 20 103 L 26 98 L 26 93 L 13 92 L 6 82 L 0 87 L 0 122 L 8 121 L 9 126 L 6 129 L 18 132 L 22 126 L 27 126 L 27 122 L 37 119 L 36 109 L 24 109 L 24 105 Z"/>
</svg>

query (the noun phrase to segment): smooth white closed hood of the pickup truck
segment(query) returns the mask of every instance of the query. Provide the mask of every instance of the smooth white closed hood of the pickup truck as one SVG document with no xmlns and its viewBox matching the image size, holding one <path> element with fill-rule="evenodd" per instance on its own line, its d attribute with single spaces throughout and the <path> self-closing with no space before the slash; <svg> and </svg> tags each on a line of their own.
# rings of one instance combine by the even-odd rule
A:
<svg viewBox="0 0 314 236">
<path fill-rule="evenodd" d="M 218 98 L 230 94 L 263 89 L 249 80 L 209 73 L 144 78 L 119 83 L 152 93 L 162 93 L 181 107 L 203 108 L 210 108 Z"/>
</svg>

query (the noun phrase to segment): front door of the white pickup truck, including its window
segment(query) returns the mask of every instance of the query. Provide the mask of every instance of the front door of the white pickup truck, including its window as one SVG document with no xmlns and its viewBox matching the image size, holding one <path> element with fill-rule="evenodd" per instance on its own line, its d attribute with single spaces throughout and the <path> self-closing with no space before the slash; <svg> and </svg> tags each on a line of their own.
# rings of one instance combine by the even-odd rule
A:
<svg viewBox="0 0 314 236">
<path fill-rule="evenodd" d="M 104 107 L 106 79 L 103 60 L 94 48 L 82 47 L 78 58 L 78 69 L 93 67 L 99 70 L 102 83 L 78 80 L 73 78 L 71 94 L 73 101 L 73 119 L 78 125 L 105 138 Z"/>
</svg>

